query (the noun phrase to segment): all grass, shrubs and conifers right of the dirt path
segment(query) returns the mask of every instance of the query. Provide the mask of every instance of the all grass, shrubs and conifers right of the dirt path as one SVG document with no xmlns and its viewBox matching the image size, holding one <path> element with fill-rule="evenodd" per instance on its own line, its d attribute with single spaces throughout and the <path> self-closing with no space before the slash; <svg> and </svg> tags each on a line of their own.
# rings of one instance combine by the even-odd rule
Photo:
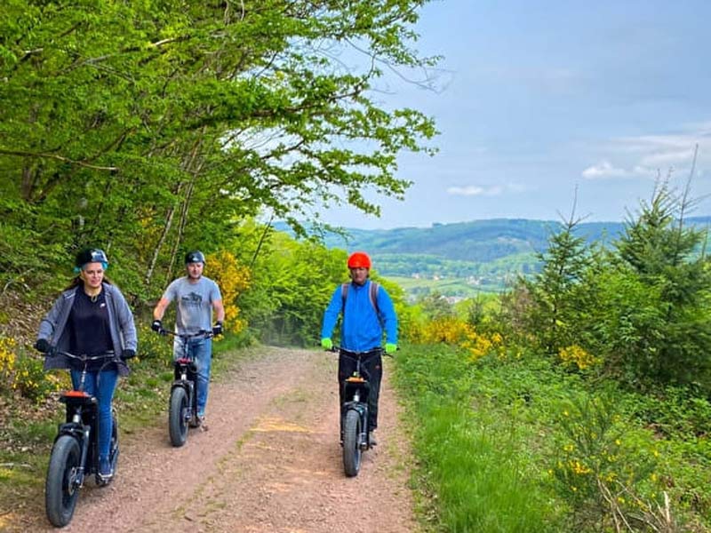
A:
<svg viewBox="0 0 711 533">
<path fill-rule="evenodd" d="M 611 250 L 571 221 L 498 306 L 423 307 L 395 377 L 433 530 L 711 530 L 711 283 L 684 202 L 660 184 Z"/>
</svg>

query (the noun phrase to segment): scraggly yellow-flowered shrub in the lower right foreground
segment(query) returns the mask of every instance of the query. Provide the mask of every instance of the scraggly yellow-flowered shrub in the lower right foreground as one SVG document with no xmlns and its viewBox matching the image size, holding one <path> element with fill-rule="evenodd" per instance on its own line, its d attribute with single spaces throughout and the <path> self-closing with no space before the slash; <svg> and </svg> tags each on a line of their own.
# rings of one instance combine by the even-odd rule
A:
<svg viewBox="0 0 711 533">
<path fill-rule="evenodd" d="M 635 525 L 630 530 L 652 524 L 663 528 L 654 530 L 675 530 L 659 488 L 659 451 L 651 433 L 631 429 L 616 403 L 605 393 L 578 394 L 564 404 L 551 470 L 559 495 L 571 505 L 576 529 L 626 523 Z"/>
</svg>

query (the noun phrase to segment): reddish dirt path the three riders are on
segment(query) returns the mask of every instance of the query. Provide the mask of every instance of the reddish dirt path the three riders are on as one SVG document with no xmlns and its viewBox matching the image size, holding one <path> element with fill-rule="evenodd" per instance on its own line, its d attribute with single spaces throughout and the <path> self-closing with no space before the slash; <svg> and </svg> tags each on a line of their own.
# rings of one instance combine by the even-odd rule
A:
<svg viewBox="0 0 711 533">
<path fill-rule="evenodd" d="M 167 421 L 122 435 L 116 481 L 83 489 L 63 530 L 411 533 L 406 458 L 393 392 L 380 399 L 379 446 L 343 473 L 336 357 L 260 348 L 212 383 L 209 431 L 172 448 Z M 167 417 L 166 417 L 167 418 Z M 44 516 L 25 530 L 52 530 Z"/>
</svg>

